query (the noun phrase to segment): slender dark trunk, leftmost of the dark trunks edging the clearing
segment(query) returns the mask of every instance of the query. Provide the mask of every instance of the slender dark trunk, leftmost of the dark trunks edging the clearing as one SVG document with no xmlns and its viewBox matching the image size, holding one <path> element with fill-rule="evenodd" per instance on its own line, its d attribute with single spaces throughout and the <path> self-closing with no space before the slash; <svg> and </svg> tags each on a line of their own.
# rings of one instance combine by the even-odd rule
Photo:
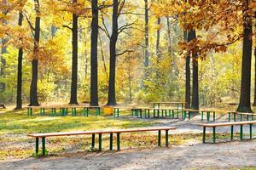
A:
<svg viewBox="0 0 256 170">
<path fill-rule="evenodd" d="M 23 14 L 19 13 L 19 26 L 22 26 Z M 22 41 L 22 39 L 21 39 Z M 18 56 L 18 75 L 17 75 L 17 96 L 16 96 L 16 107 L 15 110 L 22 109 L 22 57 L 23 57 L 23 49 L 19 48 L 19 56 Z"/>
</svg>

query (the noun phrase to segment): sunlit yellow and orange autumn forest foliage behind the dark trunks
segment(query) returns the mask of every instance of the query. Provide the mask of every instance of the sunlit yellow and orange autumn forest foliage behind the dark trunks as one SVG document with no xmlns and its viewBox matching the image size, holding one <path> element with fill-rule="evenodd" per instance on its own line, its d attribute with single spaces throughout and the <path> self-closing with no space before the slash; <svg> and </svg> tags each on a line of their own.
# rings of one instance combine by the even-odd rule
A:
<svg viewBox="0 0 256 170">
<path fill-rule="evenodd" d="M 4 30 L 1 46 L 1 102 L 13 104 L 16 101 L 18 48 L 22 47 L 22 100 L 25 104 L 29 103 L 32 60 L 37 43 L 34 41 L 35 23 L 40 18 L 38 100 L 40 104 L 68 103 L 72 85 L 74 14 L 78 19 L 77 95 L 79 103 L 90 101 L 93 1 L 27 0 L 19 1 L 18 5 L 15 1 L 4 2 L 2 4 L 6 3 L 7 6 L 3 6 L 1 20 Z M 113 2 L 97 2 L 98 97 L 101 104 L 106 104 L 108 100 Z M 117 102 L 185 100 L 186 57 L 181 43 L 186 35 L 177 14 L 162 12 L 168 1 L 119 0 L 118 3 L 119 37 L 116 43 L 115 77 Z M 6 9 L 11 5 L 14 7 Z M 8 13 L 4 14 L 7 10 Z M 211 31 L 216 30 L 218 26 L 212 26 Z M 197 37 L 204 37 L 206 30 L 201 29 L 196 34 Z M 241 48 L 242 42 L 237 41 L 230 44 L 224 52 L 210 50 L 206 58 L 199 58 L 200 105 L 238 102 Z M 192 73 L 192 62 L 189 65 Z"/>
</svg>

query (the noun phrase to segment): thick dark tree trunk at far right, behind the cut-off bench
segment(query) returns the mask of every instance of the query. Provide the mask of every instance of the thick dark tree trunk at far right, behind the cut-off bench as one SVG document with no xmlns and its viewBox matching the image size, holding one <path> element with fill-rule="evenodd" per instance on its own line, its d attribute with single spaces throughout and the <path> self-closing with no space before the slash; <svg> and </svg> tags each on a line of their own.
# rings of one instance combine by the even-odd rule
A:
<svg viewBox="0 0 256 170">
<path fill-rule="evenodd" d="M 251 108 L 251 64 L 253 48 L 252 18 L 247 14 L 249 0 L 246 1 L 246 10 L 243 11 L 243 42 L 242 42 L 242 64 L 241 64 L 241 92 L 237 111 L 253 112 Z"/>
</svg>

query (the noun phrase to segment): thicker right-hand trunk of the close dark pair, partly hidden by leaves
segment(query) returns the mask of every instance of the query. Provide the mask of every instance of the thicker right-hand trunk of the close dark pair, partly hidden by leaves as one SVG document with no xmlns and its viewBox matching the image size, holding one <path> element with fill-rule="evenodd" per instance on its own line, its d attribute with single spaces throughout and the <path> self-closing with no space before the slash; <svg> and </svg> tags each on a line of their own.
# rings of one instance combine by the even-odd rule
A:
<svg viewBox="0 0 256 170">
<path fill-rule="evenodd" d="M 196 38 L 195 30 L 189 31 L 188 41 Z M 193 64 L 193 80 L 192 80 L 192 105 L 191 108 L 199 109 L 199 94 L 198 94 L 198 55 L 192 51 L 192 64 Z"/>
</svg>

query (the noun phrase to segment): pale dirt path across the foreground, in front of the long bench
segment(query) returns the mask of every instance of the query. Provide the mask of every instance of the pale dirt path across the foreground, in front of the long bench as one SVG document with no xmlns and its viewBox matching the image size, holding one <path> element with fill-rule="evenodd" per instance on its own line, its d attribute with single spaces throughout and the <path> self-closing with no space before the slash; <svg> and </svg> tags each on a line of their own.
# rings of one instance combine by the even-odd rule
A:
<svg viewBox="0 0 256 170">
<path fill-rule="evenodd" d="M 256 139 L 154 150 L 76 153 L 2 161 L 0 169 L 229 169 L 256 166 Z"/>
</svg>

